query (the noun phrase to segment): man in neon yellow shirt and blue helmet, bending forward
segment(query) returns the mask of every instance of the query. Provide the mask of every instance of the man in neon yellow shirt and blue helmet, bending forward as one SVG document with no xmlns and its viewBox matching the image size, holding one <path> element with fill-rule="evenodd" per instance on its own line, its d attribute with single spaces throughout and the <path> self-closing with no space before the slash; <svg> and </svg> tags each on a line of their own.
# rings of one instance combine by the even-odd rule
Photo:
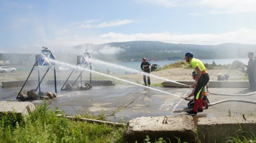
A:
<svg viewBox="0 0 256 143">
<path fill-rule="evenodd" d="M 195 82 L 193 85 L 191 85 L 191 87 L 196 86 L 194 91 L 195 105 L 193 110 L 186 112 L 189 114 L 197 114 L 197 112 L 203 112 L 202 89 L 209 82 L 210 78 L 203 62 L 199 59 L 194 58 L 193 53 L 186 53 L 184 59 L 186 60 L 186 62 L 190 63 L 194 71 L 197 73 L 195 77 Z"/>
</svg>

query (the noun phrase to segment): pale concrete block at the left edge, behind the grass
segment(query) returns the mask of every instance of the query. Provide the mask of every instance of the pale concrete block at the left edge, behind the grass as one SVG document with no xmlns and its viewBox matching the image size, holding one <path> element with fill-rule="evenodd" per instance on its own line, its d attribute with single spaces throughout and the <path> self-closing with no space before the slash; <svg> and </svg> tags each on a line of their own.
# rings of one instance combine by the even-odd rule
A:
<svg viewBox="0 0 256 143">
<path fill-rule="evenodd" d="M 0 101 L 0 115 L 8 113 L 17 113 L 18 115 L 28 115 L 35 110 L 35 105 L 31 102 L 10 102 Z"/>
</svg>

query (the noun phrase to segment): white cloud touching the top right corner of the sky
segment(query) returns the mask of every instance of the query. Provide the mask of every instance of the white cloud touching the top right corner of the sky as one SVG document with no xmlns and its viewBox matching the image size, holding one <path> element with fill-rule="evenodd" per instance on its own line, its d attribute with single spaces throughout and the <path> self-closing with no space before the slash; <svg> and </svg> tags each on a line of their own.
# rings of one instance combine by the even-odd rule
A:
<svg viewBox="0 0 256 143">
<path fill-rule="evenodd" d="M 241 12 L 255 12 L 255 0 L 202 0 L 198 3 L 201 6 L 208 6 L 212 10 L 210 13 L 241 13 Z"/>
</svg>

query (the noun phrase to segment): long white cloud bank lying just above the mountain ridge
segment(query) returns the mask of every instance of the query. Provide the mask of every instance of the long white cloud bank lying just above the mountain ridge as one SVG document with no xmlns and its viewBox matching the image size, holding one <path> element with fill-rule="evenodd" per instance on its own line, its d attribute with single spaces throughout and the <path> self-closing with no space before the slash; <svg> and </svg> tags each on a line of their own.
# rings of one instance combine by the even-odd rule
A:
<svg viewBox="0 0 256 143">
<path fill-rule="evenodd" d="M 168 43 L 187 44 L 221 44 L 225 42 L 256 44 L 256 30 L 242 28 L 237 31 L 230 31 L 221 34 L 172 34 L 172 33 L 151 33 L 151 34 L 122 34 L 108 33 L 100 35 L 101 39 L 111 42 L 152 40 Z"/>
</svg>

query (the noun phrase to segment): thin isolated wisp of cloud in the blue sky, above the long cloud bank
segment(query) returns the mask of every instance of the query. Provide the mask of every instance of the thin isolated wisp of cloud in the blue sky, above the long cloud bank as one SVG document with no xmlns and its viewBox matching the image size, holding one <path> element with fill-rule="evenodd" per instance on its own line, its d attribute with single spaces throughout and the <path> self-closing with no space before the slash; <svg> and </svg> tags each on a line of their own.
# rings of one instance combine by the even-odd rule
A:
<svg viewBox="0 0 256 143">
<path fill-rule="evenodd" d="M 98 25 L 92 25 L 92 24 L 82 24 L 79 26 L 79 28 L 106 28 L 106 27 L 116 27 L 116 26 L 121 26 L 121 25 L 127 25 L 129 23 L 134 22 L 133 20 L 114 20 L 114 21 L 109 21 L 109 22 L 101 22 Z"/>
</svg>

